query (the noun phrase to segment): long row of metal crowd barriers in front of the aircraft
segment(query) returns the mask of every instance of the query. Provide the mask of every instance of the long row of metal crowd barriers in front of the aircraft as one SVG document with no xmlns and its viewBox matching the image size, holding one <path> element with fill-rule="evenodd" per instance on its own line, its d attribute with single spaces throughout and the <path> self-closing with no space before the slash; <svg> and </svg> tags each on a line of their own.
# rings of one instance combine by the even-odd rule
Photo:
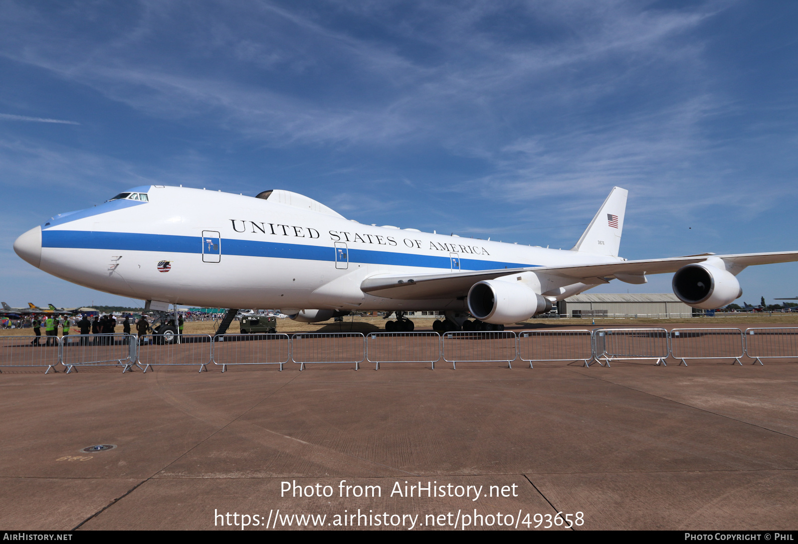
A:
<svg viewBox="0 0 798 544">
<path fill-rule="evenodd" d="M 160 334 L 136 337 L 129 334 L 71 334 L 66 337 L 0 337 L 0 368 L 46 367 L 66 373 L 86 366 L 122 366 L 122 372 L 137 365 L 147 372 L 155 365 L 199 365 L 207 370 L 211 361 L 226 372 L 228 365 L 300 365 L 354 363 L 435 363 L 443 359 L 456 369 L 458 362 L 504 362 L 512 369 L 516 359 L 535 361 L 591 361 L 610 365 L 614 360 L 651 359 L 666 365 L 674 357 L 687 359 L 733 359 L 741 363 L 747 355 L 753 364 L 766 358 L 798 358 L 798 327 L 745 329 L 573 329 L 449 332 L 438 333 L 286 333 Z M 49 342 L 48 342 L 49 341 Z M 49 344 L 49 345 L 48 345 Z"/>
</svg>

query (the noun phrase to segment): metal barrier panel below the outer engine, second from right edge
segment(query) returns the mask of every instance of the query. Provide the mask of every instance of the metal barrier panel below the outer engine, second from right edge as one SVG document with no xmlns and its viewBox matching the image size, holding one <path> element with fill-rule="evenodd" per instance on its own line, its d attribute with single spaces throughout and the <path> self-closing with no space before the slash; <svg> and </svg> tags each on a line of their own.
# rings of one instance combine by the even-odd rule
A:
<svg viewBox="0 0 798 544">
<path fill-rule="evenodd" d="M 734 359 L 745 355 L 743 332 L 740 329 L 671 329 L 670 356 L 681 359 Z M 734 363 L 732 363 L 734 364 Z"/>
</svg>

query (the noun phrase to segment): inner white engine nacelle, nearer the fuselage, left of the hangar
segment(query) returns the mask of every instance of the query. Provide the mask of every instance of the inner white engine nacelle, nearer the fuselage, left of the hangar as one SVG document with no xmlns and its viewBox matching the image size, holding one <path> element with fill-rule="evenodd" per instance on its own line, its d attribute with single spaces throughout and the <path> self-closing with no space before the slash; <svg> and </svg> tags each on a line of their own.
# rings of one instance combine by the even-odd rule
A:
<svg viewBox="0 0 798 544">
<path fill-rule="evenodd" d="M 480 321 L 509 325 L 547 312 L 551 301 L 519 283 L 489 279 L 468 290 L 468 311 Z"/>
</svg>

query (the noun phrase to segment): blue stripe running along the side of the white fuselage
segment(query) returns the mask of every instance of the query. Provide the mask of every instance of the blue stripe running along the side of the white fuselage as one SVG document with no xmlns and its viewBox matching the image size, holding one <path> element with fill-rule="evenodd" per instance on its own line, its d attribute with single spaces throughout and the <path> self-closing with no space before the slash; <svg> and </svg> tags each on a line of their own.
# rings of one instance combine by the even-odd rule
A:
<svg viewBox="0 0 798 544">
<path fill-rule="evenodd" d="M 203 250 L 202 237 L 176 235 L 144 235 L 132 232 L 95 231 L 41 231 L 42 247 L 61 247 L 89 250 L 170 251 L 174 253 L 196 253 Z M 244 257 L 296 258 L 309 261 L 334 261 L 334 247 L 305 246 L 293 243 L 257 242 L 222 238 L 223 255 Z M 450 270 L 451 259 L 447 256 L 393 253 L 390 251 L 361 250 L 349 248 L 350 262 L 364 264 L 421 266 Z M 460 257 L 462 270 L 494 270 L 497 268 L 521 268 L 539 266 L 523 262 L 483 261 Z"/>
</svg>

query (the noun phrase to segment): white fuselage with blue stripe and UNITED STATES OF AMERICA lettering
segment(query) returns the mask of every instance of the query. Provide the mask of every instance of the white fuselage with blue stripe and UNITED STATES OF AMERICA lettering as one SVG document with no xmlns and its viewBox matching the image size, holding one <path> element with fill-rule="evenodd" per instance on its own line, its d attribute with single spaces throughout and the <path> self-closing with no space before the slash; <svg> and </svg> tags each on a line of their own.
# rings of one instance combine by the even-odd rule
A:
<svg viewBox="0 0 798 544">
<path fill-rule="evenodd" d="M 374 227 L 276 199 L 183 187 L 131 191 L 146 192 L 149 201 L 113 200 L 42 225 L 41 270 L 93 289 L 173 304 L 460 310 L 466 308 L 462 298 L 395 300 L 365 294 L 360 285 L 378 274 L 622 260 Z M 540 274 L 533 288 L 559 300 L 591 287 L 572 282 Z"/>
</svg>

